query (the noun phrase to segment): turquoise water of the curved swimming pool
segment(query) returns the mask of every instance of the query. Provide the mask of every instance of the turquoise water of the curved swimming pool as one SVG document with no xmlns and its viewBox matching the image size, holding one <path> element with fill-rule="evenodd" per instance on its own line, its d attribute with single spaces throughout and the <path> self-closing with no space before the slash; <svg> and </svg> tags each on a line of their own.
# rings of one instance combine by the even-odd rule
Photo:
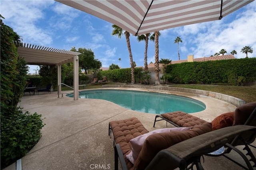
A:
<svg viewBox="0 0 256 170">
<path fill-rule="evenodd" d="M 172 111 L 194 113 L 206 108 L 202 102 L 191 98 L 130 90 L 88 90 L 82 91 L 79 98 L 108 100 L 127 109 L 156 114 Z"/>
</svg>

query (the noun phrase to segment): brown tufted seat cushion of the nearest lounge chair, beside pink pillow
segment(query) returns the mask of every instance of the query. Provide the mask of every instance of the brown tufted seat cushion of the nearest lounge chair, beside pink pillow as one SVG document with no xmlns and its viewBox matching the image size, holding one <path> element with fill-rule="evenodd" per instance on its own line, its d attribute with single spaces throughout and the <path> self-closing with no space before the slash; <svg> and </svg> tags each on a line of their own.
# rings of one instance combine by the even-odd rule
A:
<svg viewBox="0 0 256 170">
<path fill-rule="evenodd" d="M 116 143 L 118 143 L 122 149 L 127 168 L 130 170 L 133 164 L 126 158 L 126 155 L 132 150 L 130 140 L 148 133 L 148 131 L 136 117 L 111 121 L 109 125 L 111 126 Z"/>
</svg>

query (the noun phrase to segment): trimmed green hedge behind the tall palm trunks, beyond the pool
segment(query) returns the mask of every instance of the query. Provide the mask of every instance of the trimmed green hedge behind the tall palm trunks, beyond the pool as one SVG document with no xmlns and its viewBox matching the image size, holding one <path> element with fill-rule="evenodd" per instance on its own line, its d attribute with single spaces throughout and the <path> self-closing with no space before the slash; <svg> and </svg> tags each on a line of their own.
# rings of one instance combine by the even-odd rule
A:
<svg viewBox="0 0 256 170">
<path fill-rule="evenodd" d="M 141 71 L 142 71 L 142 68 L 134 69 L 135 83 L 140 83 L 141 74 L 142 74 Z M 98 72 L 97 77 L 99 80 L 101 80 L 103 76 L 107 76 L 107 80 L 110 82 L 122 82 L 122 83 L 132 82 L 131 68 L 104 70 L 104 71 Z"/>
</svg>

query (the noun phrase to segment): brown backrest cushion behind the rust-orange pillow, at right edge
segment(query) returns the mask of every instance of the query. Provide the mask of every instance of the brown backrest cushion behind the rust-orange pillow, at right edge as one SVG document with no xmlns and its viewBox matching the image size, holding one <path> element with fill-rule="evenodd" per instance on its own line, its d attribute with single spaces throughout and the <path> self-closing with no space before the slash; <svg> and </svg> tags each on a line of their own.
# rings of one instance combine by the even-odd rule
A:
<svg viewBox="0 0 256 170">
<path fill-rule="evenodd" d="M 236 107 L 234 113 L 234 123 L 233 125 L 244 125 L 252 111 L 256 107 L 256 102 L 247 103 Z"/>
</svg>

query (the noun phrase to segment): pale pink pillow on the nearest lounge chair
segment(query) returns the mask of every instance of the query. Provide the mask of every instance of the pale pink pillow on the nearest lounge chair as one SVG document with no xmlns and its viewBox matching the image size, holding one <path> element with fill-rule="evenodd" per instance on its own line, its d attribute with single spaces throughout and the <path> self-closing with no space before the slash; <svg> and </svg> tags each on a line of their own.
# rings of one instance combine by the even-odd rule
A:
<svg viewBox="0 0 256 170">
<path fill-rule="evenodd" d="M 126 158 L 134 164 L 134 161 L 138 158 L 138 155 L 140 153 L 140 150 L 142 149 L 142 146 L 144 144 L 144 141 L 146 138 L 152 134 L 156 133 L 168 133 L 172 131 L 186 131 L 189 130 L 190 127 L 173 127 L 173 128 L 163 128 L 163 129 L 156 129 L 154 131 L 151 131 L 149 133 L 140 135 L 132 140 L 130 140 L 130 143 L 132 145 L 132 151 L 126 155 Z"/>
</svg>

